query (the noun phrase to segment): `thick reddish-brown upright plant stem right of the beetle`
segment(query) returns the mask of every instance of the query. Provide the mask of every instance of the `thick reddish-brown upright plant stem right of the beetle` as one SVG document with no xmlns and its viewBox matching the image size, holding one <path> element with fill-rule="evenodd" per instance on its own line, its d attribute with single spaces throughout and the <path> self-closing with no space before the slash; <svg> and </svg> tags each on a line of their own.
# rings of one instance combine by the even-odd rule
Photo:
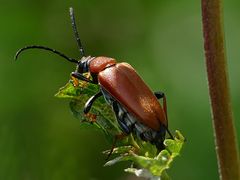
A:
<svg viewBox="0 0 240 180">
<path fill-rule="evenodd" d="M 204 48 L 219 175 L 239 180 L 239 156 L 232 117 L 221 0 L 202 0 Z"/>
</svg>

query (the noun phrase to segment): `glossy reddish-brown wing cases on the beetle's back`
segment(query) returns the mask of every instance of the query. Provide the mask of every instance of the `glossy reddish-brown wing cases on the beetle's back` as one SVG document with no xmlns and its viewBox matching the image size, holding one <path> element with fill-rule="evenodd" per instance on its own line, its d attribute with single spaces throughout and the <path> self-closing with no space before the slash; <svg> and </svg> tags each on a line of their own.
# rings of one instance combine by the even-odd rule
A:
<svg viewBox="0 0 240 180">
<path fill-rule="evenodd" d="M 165 113 L 157 98 L 128 63 L 118 63 L 101 71 L 99 84 L 141 123 L 156 131 L 167 127 Z"/>
</svg>

